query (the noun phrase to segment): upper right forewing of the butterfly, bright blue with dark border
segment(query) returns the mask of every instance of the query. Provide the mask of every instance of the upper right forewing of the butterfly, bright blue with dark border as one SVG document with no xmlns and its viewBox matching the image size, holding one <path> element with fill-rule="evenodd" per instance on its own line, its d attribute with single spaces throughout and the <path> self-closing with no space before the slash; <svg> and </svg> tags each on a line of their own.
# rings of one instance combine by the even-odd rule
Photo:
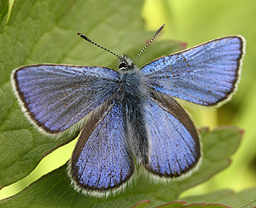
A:
<svg viewBox="0 0 256 208">
<path fill-rule="evenodd" d="M 160 57 L 141 70 L 152 89 L 212 106 L 235 90 L 244 48 L 241 37 L 218 38 Z"/>
</svg>

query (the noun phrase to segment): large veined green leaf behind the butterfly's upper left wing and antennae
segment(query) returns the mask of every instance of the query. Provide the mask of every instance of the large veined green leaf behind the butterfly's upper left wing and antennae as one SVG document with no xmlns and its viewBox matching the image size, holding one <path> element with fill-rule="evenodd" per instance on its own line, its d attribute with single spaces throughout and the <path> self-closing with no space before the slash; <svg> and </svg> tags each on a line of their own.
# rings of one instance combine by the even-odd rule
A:
<svg viewBox="0 0 256 208">
<path fill-rule="evenodd" d="M 77 130 L 58 140 L 40 134 L 20 111 L 10 84 L 11 72 L 19 66 L 46 62 L 116 68 L 115 56 L 85 42 L 76 33 L 83 32 L 118 54 L 140 51 L 145 40 L 154 34 L 143 30 L 139 15 L 142 5 L 136 0 L 17 0 L 5 26 L 2 17 L 7 15 L 8 1 L 1 1 L 0 188 L 27 176 L 45 155 L 79 134 Z M 147 50 L 154 51 L 151 56 L 157 58 L 154 55 L 181 49 L 181 44 L 154 42 L 150 48 Z"/>
</svg>

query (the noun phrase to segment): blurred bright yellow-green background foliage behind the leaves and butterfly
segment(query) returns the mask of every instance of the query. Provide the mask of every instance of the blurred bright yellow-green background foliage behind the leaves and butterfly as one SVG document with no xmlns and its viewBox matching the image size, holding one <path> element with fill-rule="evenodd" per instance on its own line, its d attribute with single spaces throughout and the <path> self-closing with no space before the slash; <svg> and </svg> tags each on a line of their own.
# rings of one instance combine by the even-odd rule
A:
<svg viewBox="0 0 256 208">
<path fill-rule="evenodd" d="M 148 30 L 155 31 L 165 23 L 166 28 L 160 38 L 186 42 L 188 47 L 227 35 L 240 34 L 247 39 L 247 53 L 243 61 L 241 82 L 232 100 L 218 110 L 208 110 L 203 107 L 188 108 L 200 127 L 210 126 L 212 129 L 218 125 L 233 124 L 244 129 L 245 135 L 241 147 L 232 157 L 233 163 L 229 169 L 214 176 L 209 182 L 189 190 L 184 196 L 206 194 L 221 188 L 239 191 L 255 187 L 256 1 L 147 0 L 144 3 L 142 15 Z M 38 177 L 63 165 L 69 159 L 73 146 L 74 142 L 48 155 L 30 176 L 8 188 L 3 188 L 1 197 L 20 191 Z"/>
</svg>

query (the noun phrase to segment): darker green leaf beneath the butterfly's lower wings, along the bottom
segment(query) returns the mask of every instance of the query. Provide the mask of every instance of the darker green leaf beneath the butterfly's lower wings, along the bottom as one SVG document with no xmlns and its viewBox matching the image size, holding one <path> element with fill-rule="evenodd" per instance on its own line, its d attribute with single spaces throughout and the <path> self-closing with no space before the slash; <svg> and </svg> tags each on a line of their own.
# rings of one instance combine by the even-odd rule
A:
<svg viewBox="0 0 256 208">
<path fill-rule="evenodd" d="M 137 181 L 132 182 L 132 186 L 127 187 L 123 193 L 110 196 L 107 199 L 98 199 L 84 196 L 74 191 L 70 185 L 70 180 L 67 178 L 67 167 L 63 165 L 61 168 L 41 177 L 37 182 L 32 183 L 32 185 L 19 194 L 9 199 L 3 199 L 0 202 L 0 206 L 131 207 L 143 200 L 151 201 L 146 207 L 164 205 L 172 200 L 178 199 L 179 194 L 184 190 L 206 181 L 230 165 L 229 157 L 236 151 L 241 140 L 241 134 L 242 131 L 234 127 L 218 128 L 212 130 L 212 132 L 208 132 L 207 129 L 201 130 L 204 154 L 202 165 L 192 176 L 189 176 L 183 181 L 154 184 L 148 182 L 148 179 L 145 179 L 143 174 L 138 170 Z M 208 203 L 208 201 L 204 202 Z M 183 205 L 182 202 L 180 203 Z"/>
</svg>

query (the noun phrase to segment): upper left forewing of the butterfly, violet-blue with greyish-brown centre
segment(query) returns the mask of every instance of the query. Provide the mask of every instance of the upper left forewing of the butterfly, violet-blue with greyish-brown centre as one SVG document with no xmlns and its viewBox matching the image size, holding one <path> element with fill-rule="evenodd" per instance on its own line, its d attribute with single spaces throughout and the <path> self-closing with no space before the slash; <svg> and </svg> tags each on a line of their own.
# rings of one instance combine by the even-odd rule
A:
<svg viewBox="0 0 256 208">
<path fill-rule="evenodd" d="M 118 89 L 119 73 L 100 66 L 35 65 L 13 73 L 32 120 L 47 132 L 66 130 Z"/>
</svg>

